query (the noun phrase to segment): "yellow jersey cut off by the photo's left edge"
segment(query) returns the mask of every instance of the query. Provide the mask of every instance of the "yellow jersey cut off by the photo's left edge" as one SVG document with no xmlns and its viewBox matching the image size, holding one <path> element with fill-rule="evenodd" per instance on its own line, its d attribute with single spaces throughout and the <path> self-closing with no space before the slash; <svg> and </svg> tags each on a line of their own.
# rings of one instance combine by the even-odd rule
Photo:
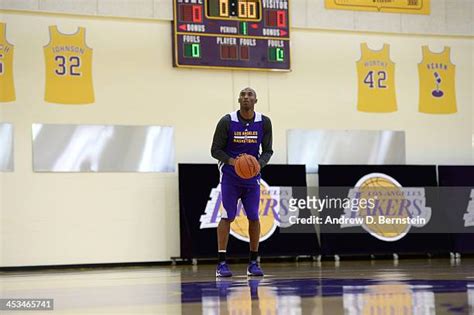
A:
<svg viewBox="0 0 474 315">
<path fill-rule="evenodd" d="M 6 24 L 0 23 L 0 102 L 16 100 L 13 82 L 13 45 L 7 41 Z"/>
</svg>

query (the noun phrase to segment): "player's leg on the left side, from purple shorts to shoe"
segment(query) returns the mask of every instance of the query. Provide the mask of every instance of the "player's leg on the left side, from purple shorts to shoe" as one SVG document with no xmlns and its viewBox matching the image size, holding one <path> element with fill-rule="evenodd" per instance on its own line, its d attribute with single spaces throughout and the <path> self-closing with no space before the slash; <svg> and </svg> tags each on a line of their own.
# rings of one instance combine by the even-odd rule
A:
<svg viewBox="0 0 474 315">
<path fill-rule="evenodd" d="M 226 263 L 227 242 L 229 241 L 230 224 L 237 213 L 237 200 L 240 195 L 239 187 L 221 185 L 222 206 L 221 220 L 217 225 L 218 260 L 216 276 L 231 277 L 232 272 Z"/>
</svg>

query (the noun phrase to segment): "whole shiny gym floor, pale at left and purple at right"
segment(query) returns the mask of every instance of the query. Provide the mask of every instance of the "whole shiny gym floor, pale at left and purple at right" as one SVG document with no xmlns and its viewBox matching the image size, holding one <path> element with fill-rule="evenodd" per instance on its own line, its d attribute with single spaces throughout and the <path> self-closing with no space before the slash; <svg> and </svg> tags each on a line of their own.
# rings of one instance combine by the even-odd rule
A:
<svg viewBox="0 0 474 315">
<path fill-rule="evenodd" d="M 246 265 L 235 265 L 245 270 Z M 474 261 L 265 264 L 216 279 L 214 265 L 0 272 L 2 298 L 53 298 L 54 314 L 469 314 Z"/>
</svg>

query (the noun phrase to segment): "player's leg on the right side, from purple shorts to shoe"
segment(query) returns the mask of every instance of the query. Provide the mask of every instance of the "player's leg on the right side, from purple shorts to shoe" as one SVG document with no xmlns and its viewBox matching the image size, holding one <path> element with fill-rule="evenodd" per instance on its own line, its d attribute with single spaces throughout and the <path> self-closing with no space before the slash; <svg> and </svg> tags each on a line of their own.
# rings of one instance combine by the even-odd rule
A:
<svg viewBox="0 0 474 315">
<path fill-rule="evenodd" d="M 245 213 L 247 214 L 247 219 L 249 220 L 250 255 L 247 274 L 250 276 L 263 276 L 263 271 L 257 263 L 258 245 L 260 242 L 260 219 L 258 214 L 260 207 L 260 187 L 246 188 L 241 200 Z"/>
</svg>

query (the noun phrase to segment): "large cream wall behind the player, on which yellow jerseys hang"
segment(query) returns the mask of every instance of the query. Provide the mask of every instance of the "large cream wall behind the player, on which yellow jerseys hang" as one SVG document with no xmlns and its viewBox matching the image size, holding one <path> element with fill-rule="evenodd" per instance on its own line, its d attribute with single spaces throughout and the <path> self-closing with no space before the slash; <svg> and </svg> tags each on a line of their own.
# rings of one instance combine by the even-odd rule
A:
<svg viewBox="0 0 474 315">
<path fill-rule="evenodd" d="M 213 163 L 217 120 L 254 87 L 257 109 L 274 125 L 273 163 L 286 163 L 291 128 L 393 129 L 407 134 L 408 163 L 470 163 L 472 38 L 293 29 L 289 73 L 176 69 L 169 21 L 3 12 L 15 44 L 17 101 L 2 104 L 15 125 L 15 172 L 0 173 L 0 266 L 164 261 L 179 255 L 178 175 L 32 172 L 31 124 L 123 124 L 175 127 L 176 162 Z M 96 103 L 43 101 L 42 47 L 48 26 L 87 28 L 94 49 Z M 391 45 L 399 111 L 356 111 L 355 61 L 360 43 Z M 452 47 L 457 65 L 456 115 L 418 113 L 421 45 Z M 198 183 L 198 179 L 192 179 Z"/>
</svg>

